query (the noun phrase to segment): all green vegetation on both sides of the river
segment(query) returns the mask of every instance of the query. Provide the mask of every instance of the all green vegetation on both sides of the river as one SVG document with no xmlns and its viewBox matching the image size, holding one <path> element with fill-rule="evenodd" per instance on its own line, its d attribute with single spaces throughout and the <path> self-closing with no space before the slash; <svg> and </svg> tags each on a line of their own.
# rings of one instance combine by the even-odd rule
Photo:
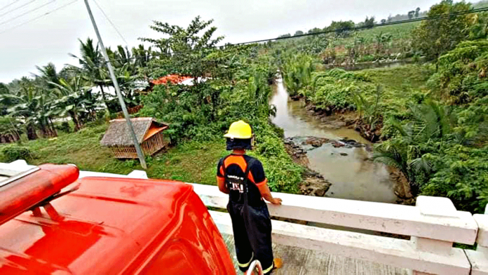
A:
<svg viewBox="0 0 488 275">
<path fill-rule="evenodd" d="M 480 2 L 475 7 L 487 6 Z M 473 8 L 445 0 L 380 22 L 437 18 L 373 27 L 332 22 L 309 34 L 249 46 L 217 47 L 212 21 L 188 27 L 155 21 L 151 47 L 109 49 L 128 107 L 135 116 L 170 123 L 174 147 L 148 157 L 148 174 L 213 184 L 215 163 L 226 154 L 222 134 L 244 119 L 256 134 L 251 154 L 264 163 L 275 191 L 297 192 L 302 168 L 285 152 L 280 129 L 269 123 L 271 84 L 283 76 L 294 98 L 326 114 L 355 112 L 356 129 L 375 147 L 374 159 L 398 168 L 414 195 L 447 196 L 462 210 L 482 212 L 488 203 L 488 14 L 450 15 Z M 353 27 L 365 26 L 353 31 Z M 161 38 L 163 37 L 163 38 Z M 292 37 L 285 34 L 283 37 Z M 118 161 L 100 138 L 120 112 L 96 44 L 80 41 L 79 66 L 0 83 L 0 161 L 76 163 L 86 170 L 128 173 L 137 161 Z M 407 59 L 415 64 L 357 72 L 337 67 Z M 416 63 L 424 60 L 425 63 Z M 192 85 L 154 85 L 168 74 Z M 27 141 L 30 140 L 30 141 Z"/>
</svg>

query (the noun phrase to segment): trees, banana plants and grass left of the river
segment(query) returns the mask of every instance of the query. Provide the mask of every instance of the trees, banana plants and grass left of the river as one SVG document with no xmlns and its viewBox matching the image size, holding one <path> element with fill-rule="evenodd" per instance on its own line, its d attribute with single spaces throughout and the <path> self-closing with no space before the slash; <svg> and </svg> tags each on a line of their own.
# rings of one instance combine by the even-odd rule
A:
<svg viewBox="0 0 488 275">
<path fill-rule="evenodd" d="M 302 168 L 285 152 L 280 130 L 269 123 L 273 114 L 269 84 L 277 67 L 258 55 L 256 46 L 215 48 L 222 38 L 212 38 L 216 28 L 211 23 L 195 18 L 182 28 L 155 21 L 151 28 L 169 38 L 142 40 L 153 43 L 156 51 L 142 46 L 109 51 L 126 103 L 144 105 L 135 115 L 170 123 L 166 133 L 177 147 L 148 158 L 149 175 L 213 184 L 216 163 L 224 154 L 222 135 L 231 122 L 243 119 L 255 130 L 255 151 L 250 154 L 263 162 L 271 189 L 297 192 Z M 99 145 L 107 127 L 104 120 L 119 109 L 109 93 L 112 83 L 99 49 L 90 39 L 80 43 L 80 67 L 57 72 L 50 64 L 39 67 L 39 75 L 33 78 L 2 86 L 0 102 L 6 114 L 0 121 L 6 129 L 2 138 L 20 143 L 0 148 L 4 161 L 76 163 L 83 169 L 111 173 L 126 173 L 137 166 L 136 161 L 113 159 Z M 167 74 L 191 76 L 193 85 L 168 83 L 143 90 L 149 79 Z"/>
</svg>

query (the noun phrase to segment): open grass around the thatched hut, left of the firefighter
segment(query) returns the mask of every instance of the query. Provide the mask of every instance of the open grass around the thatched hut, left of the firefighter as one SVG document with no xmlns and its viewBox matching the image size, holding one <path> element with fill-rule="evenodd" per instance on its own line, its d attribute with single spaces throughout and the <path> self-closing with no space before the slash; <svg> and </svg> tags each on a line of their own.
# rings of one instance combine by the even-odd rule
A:
<svg viewBox="0 0 488 275">
<path fill-rule="evenodd" d="M 112 156 L 107 147 L 100 145 L 107 125 L 87 127 L 77 133 L 60 134 L 47 140 L 23 142 L 32 152 L 27 162 L 74 163 L 81 170 L 128 174 L 142 168 L 137 160 L 121 161 Z M 5 146 L 5 145 L 4 145 Z M 147 157 L 147 175 L 151 178 L 181 180 L 215 185 L 217 161 L 225 156 L 224 140 L 217 142 L 185 142 Z M 6 161 L 0 155 L 0 162 Z"/>
</svg>

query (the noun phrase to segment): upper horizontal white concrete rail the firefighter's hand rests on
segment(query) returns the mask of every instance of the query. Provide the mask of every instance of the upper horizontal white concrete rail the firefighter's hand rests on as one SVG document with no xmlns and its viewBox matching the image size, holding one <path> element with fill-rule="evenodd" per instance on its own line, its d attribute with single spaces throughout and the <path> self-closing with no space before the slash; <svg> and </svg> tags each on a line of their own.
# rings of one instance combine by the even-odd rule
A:
<svg viewBox="0 0 488 275">
<path fill-rule="evenodd" d="M 206 206 L 226 208 L 229 197 L 217 187 L 194 184 L 194 190 Z M 433 198 L 435 202 L 431 207 L 415 207 L 283 193 L 273 193 L 273 196 L 283 199 L 282 206 L 269 205 L 269 213 L 275 217 L 455 243 L 474 244 L 476 241 L 477 225 L 473 216 L 456 211 L 445 198 Z M 442 201 L 437 199 L 449 201 L 452 206 L 449 212 L 442 214 L 438 210 L 445 206 L 435 206 Z"/>
</svg>

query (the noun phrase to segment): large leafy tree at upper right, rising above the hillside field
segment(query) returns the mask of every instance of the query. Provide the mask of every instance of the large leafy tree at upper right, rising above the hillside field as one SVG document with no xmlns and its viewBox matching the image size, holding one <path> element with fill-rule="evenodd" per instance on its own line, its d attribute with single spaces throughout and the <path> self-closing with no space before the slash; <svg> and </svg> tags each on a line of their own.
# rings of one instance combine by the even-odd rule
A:
<svg viewBox="0 0 488 275">
<path fill-rule="evenodd" d="M 443 0 L 431 7 L 428 18 L 435 18 L 449 13 L 469 11 L 470 4 L 452 0 Z M 435 20 L 426 20 L 413 31 L 414 49 L 426 56 L 428 60 L 435 60 L 443 53 L 452 50 L 456 45 L 468 39 L 470 26 L 473 25 L 473 15 L 457 15 Z"/>
</svg>

